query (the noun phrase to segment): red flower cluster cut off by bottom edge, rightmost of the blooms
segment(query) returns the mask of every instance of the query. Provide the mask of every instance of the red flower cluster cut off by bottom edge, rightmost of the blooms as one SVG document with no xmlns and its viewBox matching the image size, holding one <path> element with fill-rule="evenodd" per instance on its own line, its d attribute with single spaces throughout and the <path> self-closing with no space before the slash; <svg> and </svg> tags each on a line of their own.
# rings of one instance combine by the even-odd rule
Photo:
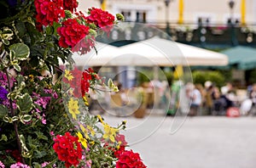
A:
<svg viewBox="0 0 256 168">
<path fill-rule="evenodd" d="M 143 164 L 140 155 L 134 153 L 132 150 L 125 150 L 120 148 L 116 151 L 115 156 L 119 159 L 116 162 L 116 168 L 146 168 L 147 166 Z"/>
</svg>

